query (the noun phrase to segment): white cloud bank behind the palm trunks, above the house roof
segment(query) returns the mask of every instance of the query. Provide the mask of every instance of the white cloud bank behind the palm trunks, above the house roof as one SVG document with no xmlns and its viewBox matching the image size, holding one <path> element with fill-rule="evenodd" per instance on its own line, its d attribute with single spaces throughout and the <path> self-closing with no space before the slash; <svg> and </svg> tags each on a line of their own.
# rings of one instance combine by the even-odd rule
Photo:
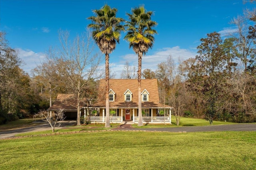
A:
<svg viewBox="0 0 256 170">
<path fill-rule="evenodd" d="M 194 58 L 196 53 L 188 49 L 181 49 L 179 46 L 162 48 L 156 51 L 152 55 L 142 56 L 142 71 L 146 68 L 150 68 L 155 71 L 157 69 L 157 64 L 165 62 L 169 55 L 172 56 L 174 62 L 178 65 L 179 58 L 184 61 L 189 58 Z M 129 61 L 130 65 L 138 66 L 138 55 L 127 54 L 122 57 L 120 63 L 111 63 L 110 70 L 115 73 L 115 78 L 120 78 L 120 74 L 124 68 L 125 61 Z"/>
</svg>

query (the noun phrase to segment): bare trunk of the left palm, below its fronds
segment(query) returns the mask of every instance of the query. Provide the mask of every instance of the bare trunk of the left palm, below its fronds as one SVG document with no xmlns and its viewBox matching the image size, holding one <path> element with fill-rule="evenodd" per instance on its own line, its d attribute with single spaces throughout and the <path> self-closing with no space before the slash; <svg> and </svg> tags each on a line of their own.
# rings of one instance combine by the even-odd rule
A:
<svg viewBox="0 0 256 170">
<path fill-rule="evenodd" d="M 106 74 L 106 123 L 105 127 L 110 127 L 110 122 L 109 122 L 109 96 L 108 96 L 108 91 L 109 91 L 109 54 L 105 54 L 105 60 L 106 60 L 106 66 L 105 66 L 105 74 Z M 104 116 L 104 115 L 103 115 Z"/>
</svg>

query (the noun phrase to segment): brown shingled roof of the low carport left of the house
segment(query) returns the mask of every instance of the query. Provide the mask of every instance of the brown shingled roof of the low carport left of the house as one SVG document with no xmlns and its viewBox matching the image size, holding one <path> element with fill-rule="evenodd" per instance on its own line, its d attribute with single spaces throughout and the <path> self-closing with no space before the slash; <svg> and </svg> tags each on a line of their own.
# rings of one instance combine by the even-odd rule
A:
<svg viewBox="0 0 256 170">
<path fill-rule="evenodd" d="M 80 102 L 80 107 L 85 106 L 86 100 Z M 65 111 L 77 111 L 77 100 L 74 94 L 58 94 L 54 104 L 49 107 L 49 111 L 57 111 L 64 109 Z"/>
</svg>

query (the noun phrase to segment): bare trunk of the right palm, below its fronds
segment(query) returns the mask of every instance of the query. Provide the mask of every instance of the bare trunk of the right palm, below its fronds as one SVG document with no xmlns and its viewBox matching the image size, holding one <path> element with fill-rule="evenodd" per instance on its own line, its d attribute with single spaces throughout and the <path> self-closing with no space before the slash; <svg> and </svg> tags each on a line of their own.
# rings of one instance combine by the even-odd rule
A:
<svg viewBox="0 0 256 170">
<path fill-rule="evenodd" d="M 138 126 L 143 126 L 142 107 L 141 107 L 141 62 L 142 62 L 142 53 L 139 53 L 138 54 L 138 108 L 139 108 Z"/>
</svg>

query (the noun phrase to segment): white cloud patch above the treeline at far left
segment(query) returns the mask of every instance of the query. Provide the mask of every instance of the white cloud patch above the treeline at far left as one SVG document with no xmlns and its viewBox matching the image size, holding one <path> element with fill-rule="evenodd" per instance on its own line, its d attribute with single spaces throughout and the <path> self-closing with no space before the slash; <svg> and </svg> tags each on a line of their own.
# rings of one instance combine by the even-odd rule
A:
<svg viewBox="0 0 256 170">
<path fill-rule="evenodd" d="M 18 57 L 23 61 L 21 68 L 30 73 L 30 71 L 36 66 L 40 65 L 45 60 L 44 53 L 35 53 L 31 50 L 16 49 L 18 51 Z"/>
</svg>

